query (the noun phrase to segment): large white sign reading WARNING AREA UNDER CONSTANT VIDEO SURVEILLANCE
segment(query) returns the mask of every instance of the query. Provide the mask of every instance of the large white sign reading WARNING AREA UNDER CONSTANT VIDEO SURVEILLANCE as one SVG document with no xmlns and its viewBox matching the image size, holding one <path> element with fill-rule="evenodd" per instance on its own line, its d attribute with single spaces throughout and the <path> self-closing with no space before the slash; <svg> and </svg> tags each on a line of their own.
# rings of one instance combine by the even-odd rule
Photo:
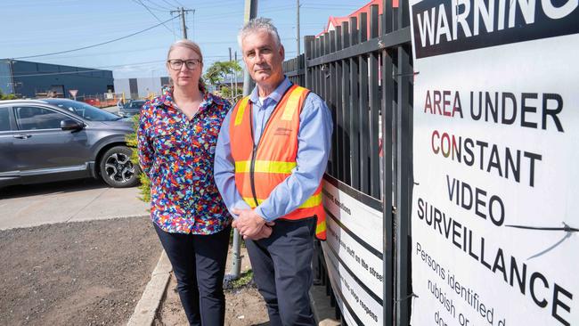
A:
<svg viewBox="0 0 579 326">
<path fill-rule="evenodd" d="M 579 324 L 578 5 L 411 2 L 413 326 Z"/>
</svg>

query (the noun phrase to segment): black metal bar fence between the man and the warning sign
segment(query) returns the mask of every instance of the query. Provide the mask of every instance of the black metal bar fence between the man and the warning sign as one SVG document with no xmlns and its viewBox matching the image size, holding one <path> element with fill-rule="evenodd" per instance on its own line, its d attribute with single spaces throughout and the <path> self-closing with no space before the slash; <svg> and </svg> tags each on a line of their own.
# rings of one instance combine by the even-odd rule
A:
<svg viewBox="0 0 579 326">
<path fill-rule="evenodd" d="M 374 4 L 369 15 L 362 12 L 321 37 L 305 37 L 306 53 L 285 61 L 284 70 L 330 107 L 334 133 L 327 174 L 379 200 L 384 320 L 408 325 L 414 76 L 410 15 L 407 1 L 397 8 L 392 0 L 382 4 L 382 12 Z"/>
</svg>

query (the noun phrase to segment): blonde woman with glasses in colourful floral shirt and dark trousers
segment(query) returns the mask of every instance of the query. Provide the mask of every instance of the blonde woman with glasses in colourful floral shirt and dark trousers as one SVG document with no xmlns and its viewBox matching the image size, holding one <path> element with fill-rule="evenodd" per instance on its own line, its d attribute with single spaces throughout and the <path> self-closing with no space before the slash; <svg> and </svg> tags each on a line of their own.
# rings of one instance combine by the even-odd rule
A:
<svg viewBox="0 0 579 326">
<path fill-rule="evenodd" d="M 217 135 L 230 103 L 200 80 L 199 45 L 171 45 L 167 71 L 173 86 L 145 103 L 138 153 L 151 179 L 151 220 L 173 265 L 179 297 L 191 325 L 224 324 L 223 279 L 232 217 L 213 178 Z"/>
</svg>

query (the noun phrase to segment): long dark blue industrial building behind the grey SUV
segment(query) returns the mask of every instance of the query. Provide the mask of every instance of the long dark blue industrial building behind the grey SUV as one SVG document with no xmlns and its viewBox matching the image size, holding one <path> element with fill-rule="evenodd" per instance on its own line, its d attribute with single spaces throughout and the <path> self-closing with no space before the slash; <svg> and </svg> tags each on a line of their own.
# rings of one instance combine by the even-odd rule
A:
<svg viewBox="0 0 579 326">
<path fill-rule="evenodd" d="M 69 91 L 77 90 L 77 99 L 83 99 L 115 88 L 111 70 L 2 59 L 0 90 L 19 97 L 70 97 Z"/>
</svg>

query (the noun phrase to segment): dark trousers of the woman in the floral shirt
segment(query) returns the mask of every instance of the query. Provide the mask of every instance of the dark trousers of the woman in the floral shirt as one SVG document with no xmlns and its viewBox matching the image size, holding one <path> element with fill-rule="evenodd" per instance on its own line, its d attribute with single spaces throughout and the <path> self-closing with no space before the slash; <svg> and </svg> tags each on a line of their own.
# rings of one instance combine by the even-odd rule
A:
<svg viewBox="0 0 579 326">
<path fill-rule="evenodd" d="M 189 324 L 223 325 L 223 281 L 231 226 L 215 234 L 202 235 L 169 233 L 154 225 L 173 265 L 179 297 Z"/>
</svg>

